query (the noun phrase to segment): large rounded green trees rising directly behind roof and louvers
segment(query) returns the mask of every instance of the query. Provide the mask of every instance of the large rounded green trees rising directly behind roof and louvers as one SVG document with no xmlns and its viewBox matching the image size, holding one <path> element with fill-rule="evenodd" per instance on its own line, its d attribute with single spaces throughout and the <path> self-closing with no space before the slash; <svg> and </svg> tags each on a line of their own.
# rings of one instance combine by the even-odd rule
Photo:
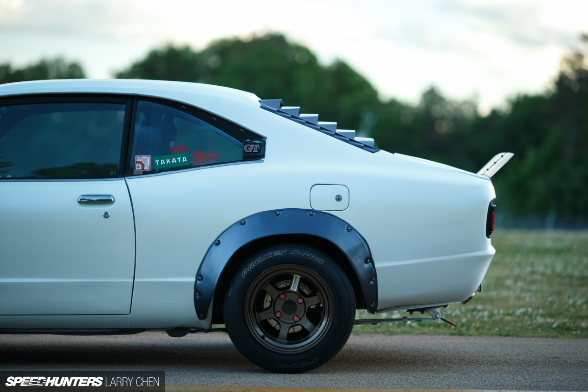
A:
<svg viewBox="0 0 588 392">
<path fill-rule="evenodd" d="M 362 110 L 380 105 L 376 90 L 343 61 L 321 65 L 308 48 L 268 34 L 250 40 L 220 39 L 202 51 L 167 45 L 133 63 L 116 78 L 200 82 L 250 91 L 339 128 L 359 128 Z"/>
</svg>

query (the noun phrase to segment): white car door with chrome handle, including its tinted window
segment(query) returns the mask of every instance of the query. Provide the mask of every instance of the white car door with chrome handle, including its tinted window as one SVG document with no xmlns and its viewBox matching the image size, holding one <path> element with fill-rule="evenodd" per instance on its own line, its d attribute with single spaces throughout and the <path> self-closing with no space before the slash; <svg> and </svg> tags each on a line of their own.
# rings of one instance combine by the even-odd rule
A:
<svg viewBox="0 0 588 392">
<path fill-rule="evenodd" d="M 128 314 L 135 228 L 121 151 L 131 100 L 0 101 L 0 314 Z"/>
</svg>

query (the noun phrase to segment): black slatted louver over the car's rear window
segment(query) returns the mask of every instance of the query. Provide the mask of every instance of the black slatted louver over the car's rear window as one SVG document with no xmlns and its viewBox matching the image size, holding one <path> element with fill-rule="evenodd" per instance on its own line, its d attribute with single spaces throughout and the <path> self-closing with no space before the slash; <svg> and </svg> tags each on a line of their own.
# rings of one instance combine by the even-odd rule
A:
<svg viewBox="0 0 588 392">
<path fill-rule="evenodd" d="M 343 142 L 349 143 L 350 145 L 368 150 L 369 152 L 377 152 L 380 150 L 373 146 L 373 139 L 357 138 L 355 136 L 355 130 L 337 129 L 336 122 L 319 121 L 319 115 L 300 114 L 300 108 L 298 106 L 283 106 L 281 99 L 260 99 L 259 103 L 261 103 L 262 109 L 278 113 L 282 117 L 289 118 L 302 125 L 316 129 L 319 132 L 326 133 L 327 135 L 343 140 Z"/>
</svg>

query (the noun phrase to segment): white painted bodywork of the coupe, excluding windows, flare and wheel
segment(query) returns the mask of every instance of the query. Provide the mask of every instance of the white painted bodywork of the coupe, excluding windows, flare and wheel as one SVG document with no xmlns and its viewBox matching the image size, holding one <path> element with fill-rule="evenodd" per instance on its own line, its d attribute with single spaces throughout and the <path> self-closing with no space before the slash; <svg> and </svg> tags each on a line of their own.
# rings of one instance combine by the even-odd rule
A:
<svg viewBox="0 0 588 392">
<path fill-rule="evenodd" d="M 19 178 L 4 167 L 0 330 L 7 333 L 209 330 L 212 303 L 204 319 L 195 310 L 202 260 L 228 227 L 260 212 L 322 211 L 353 227 L 372 255 L 377 311 L 460 303 L 495 253 L 487 236 L 490 177 L 358 148 L 262 108 L 252 93 L 179 82 L 39 81 L 1 85 L 0 107 L 70 95 L 201 109 L 257 133 L 265 156 L 100 179 Z M 86 205 L 81 195 L 113 202 Z"/>
</svg>

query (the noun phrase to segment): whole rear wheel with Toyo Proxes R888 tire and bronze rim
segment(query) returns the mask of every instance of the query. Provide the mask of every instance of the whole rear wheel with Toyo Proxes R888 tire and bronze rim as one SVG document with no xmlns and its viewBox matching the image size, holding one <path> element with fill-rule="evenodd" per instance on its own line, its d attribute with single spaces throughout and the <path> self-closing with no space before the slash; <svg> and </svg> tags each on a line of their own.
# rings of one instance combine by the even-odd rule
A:
<svg viewBox="0 0 588 392">
<path fill-rule="evenodd" d="M 240 265 L 223 314 L 230 340 L 248 360 L 270 371 L 300 373 L 327 363 L 345 346 L 355 296 L 327 254 L 283 244 Z"/>
</svg>

